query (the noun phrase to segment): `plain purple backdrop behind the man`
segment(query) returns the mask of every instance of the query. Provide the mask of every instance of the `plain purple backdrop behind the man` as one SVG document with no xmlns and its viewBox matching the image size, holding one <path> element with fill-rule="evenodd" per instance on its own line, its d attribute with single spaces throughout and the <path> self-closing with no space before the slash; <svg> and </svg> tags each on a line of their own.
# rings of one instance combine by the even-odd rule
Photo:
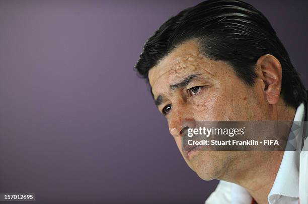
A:
<svg viewBox="0 0 308 204">
<path fill-rule="evenodd" d="M 198 2 L 0 1 L 0 193 L 36 193 L 37 203 L 202 203 L 217 181 L 185 164 L 133 71 L 147 37 Z M 307 85 L 308 3 L 248 2 Z"/>
</svg>

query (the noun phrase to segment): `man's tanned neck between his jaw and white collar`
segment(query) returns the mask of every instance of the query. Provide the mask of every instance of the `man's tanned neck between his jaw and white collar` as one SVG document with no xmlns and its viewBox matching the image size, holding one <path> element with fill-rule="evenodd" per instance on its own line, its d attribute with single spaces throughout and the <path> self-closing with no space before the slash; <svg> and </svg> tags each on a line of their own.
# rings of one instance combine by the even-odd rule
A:
<svg viewBox="0 0 308 204">
<path fill-rule="evenodd" d="M 276 108 L 278 120 L 292 121 L 295 109 L 287 106 Z M 274 184 L 284 151 L 243 151 L 241 160 L 234 161 L 229 172 L 232 176 L 223 179 L 246 188 L 259 203 L 268 203 L 267 196 Z M 236 167 L 235 167 L 236 166 Z"/>
</svg>

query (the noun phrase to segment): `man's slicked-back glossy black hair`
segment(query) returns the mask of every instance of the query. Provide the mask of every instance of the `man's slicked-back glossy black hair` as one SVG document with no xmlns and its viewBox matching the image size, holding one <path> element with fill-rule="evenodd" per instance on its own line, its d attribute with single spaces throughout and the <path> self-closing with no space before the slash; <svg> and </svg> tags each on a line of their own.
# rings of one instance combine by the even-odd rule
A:
<svg viewBox="0 0 308 204">
<path fill-rule="evenodd" d="M 225 61 L 246 84 L 254 85 L 257 60 L 275 56 L 282 66 L 281 95 L 296 108 L 307 93 L 276 32 L 253 6 L 238 0 L 209 0 L 181 11 L 165 22 L 145 43 L 135 70 L 148 83 L 148 71 L 174 48 L 198 39 L 201 53 Z"/>
</svg>

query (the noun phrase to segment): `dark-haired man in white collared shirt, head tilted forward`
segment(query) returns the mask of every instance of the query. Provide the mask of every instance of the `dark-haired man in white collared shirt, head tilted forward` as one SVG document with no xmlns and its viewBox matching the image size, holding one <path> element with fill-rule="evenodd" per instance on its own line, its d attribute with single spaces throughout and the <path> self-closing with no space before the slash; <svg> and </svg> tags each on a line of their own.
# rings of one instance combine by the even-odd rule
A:
<svg viewBox="0 0 308 204">
<path fill-rule="evenodd" d="M 182 148 L 184 121 L 304 120 L 306 90 L 259 11 L 227 0 L 188 8 L 148 39 L 135 68 L 149 83 L 186 163 L 203 180 L 220 180 L 205 203 L 298 203 L 299 197 L 308 203 L 300 185 L 307 179 L 299 171 L 301 149 Z"/>
</svg>

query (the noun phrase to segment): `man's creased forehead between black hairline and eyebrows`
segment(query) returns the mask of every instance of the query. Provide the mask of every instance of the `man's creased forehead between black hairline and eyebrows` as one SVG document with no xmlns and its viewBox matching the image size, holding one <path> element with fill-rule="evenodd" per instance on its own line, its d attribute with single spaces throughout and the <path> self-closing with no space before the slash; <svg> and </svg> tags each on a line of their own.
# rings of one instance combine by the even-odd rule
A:
<svg viewBox="0 0 308 204">
<path fill-rule="evenodd" d="M 208 69 L 211 63 L 199 52 L 197 40 L 184 42 L 149 70 L 148 78 L 153 94 L 163 90 L 166 84 L 177 83 L 178 79 L 187 74 L 207 73 L 214 76 L 215 70 Z"/>
</svg>

